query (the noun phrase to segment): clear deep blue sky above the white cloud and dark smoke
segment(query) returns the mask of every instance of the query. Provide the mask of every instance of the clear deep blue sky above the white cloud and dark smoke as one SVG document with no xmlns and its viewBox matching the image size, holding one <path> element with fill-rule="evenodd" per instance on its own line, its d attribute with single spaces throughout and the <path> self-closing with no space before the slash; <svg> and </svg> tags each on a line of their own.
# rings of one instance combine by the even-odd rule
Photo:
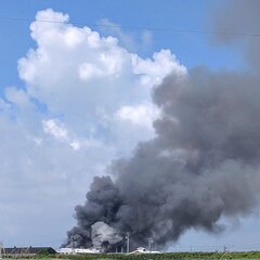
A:
<svg viewBox="0 0 260 260">
<path fill-rule="evenodd" d="M 141 2 L 78 0 L 77 3 L 72 3 L 69 0 L 24 0 L 23 3 L 18 0 L 1 1 L 0 39 L 4 51 L 1 53 L 0 69 L 9 72 L 2 75 L 1 88 L 17 83 L 17 60 L 35 44 L 29 37 L 29 21 L 14 22 L 3 17 L 21 17 L 32 21 L 37 11 L 48 8 L 68 13 L 70 22 L 79 26 L 94 25 L 101 20 L 107 18 L 115 24 L 126 26 L 123 31 L 130 35 L 140 34 L 140 29 L 134 29 L 134 27 L 166 29 L 165 31 L 153 31 L 151 48 L 145 51 L 141 50 L 140 54 L 144 56 L 153 53 L 154 50 L 169 48 L 186 67 L 206 65 L 211 68 L 234 68 L 242 66 L 239 56 L 234 50 L 209 44 L 211 36 L 171 31 L 174 29 L 207 30 L 210 27 L 209 12 L 219 2 L 214 0 L 199 0 L 198 3 L 193 0 L 185 2 L 162 0 L 159 3 L 154 0 Z"/>
</svg>

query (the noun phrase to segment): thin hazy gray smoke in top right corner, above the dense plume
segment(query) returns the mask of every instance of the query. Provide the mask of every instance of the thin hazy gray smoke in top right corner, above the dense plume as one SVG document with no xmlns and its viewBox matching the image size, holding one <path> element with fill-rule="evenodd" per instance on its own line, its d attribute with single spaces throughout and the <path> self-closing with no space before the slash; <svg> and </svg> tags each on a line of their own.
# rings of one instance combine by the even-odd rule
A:
<svg viewBox="0 0 260 260">
<path fill-rule="evenodd" d="M 251 69 L 260 69 L 260 1 L 259 0 L 229 0 L 220 6 L 214 16 L 214 28 L 218 31 L 232 32 L 219 35 L 221 43 L 235 43 L 243 48 L 244 56 Z M 252 35 L 245 37 L 242 35 Z"/>
</svg>

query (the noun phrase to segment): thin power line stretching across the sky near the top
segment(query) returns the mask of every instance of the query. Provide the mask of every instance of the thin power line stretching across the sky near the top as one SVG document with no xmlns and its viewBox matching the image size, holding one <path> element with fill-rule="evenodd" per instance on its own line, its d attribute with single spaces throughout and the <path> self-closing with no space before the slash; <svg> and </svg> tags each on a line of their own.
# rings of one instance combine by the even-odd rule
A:
<svg viewBox="0 0 260 260">
<path fill-rule="evenodd" d="M 50 24 L 65 24 L 64 21 L 51 21 L 51 20 L 30 20 L 24 17 L 8 17 L 0 16 L 0 21 L 10 21 L 10 22 L 36 22 L 36 23 L 50 23 Z M 77 25 L 86 25 L 88 23 L 77 22 Z M 104 23 L 95 23 L 88 24 L 90 27 L 104 27 L 104 28 L 120 28 L 126 30 L 151 30 L 158 32 L 171 32 L 171 34 L 197 34 L 197 35 L 223 35 L 223 36 L 242 36 L 242 37 L 260 37 L 259 34 L 249 34 L 244 31 L 220 31 L 220 30 L 200 30 L 200 29 L 171 29 L 171 28 L 162 28 L 162 27 L 139 27 L 139 26 L 125 26 L 125 25 L 116 25 L 116 24 L 104 24 Z"/>
</svg>

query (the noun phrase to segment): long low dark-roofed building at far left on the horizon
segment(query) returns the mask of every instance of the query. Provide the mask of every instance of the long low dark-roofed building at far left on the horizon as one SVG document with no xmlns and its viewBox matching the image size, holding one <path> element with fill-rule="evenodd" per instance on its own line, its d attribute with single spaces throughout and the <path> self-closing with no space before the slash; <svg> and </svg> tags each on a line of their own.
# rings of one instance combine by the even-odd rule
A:
<svg viewBox="0 0 260 260">
<path fill-rule="evenodd" d="M 39 253 L 52 255 L 56 251 L 52 247 L 9 247 L 2 249 L 5 258 L 34 257 Z"/>
</svg>

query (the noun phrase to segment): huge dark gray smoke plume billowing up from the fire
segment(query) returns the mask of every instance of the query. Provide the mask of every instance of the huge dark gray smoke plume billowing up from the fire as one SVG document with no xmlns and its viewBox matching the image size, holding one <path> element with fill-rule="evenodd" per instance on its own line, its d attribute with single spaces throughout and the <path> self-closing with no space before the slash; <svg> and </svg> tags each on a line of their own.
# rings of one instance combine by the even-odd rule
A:
<svg viewBox="0 0 260 260">
<path fill-rule="evenodd" d="M 227 15 L 230 2 L 218 26 L 238 29 L 260 20 L 258 0 L 236 0 Z M 147 245 L 148 237 L 166 247 L 191 227 L 220 232 L 221 217 L 244 216 L 259 205 L 260 48 L 251 49 L 252 42 L 245 39 L 240 47 L 252 69 L 197 67 L 187 76 L 169 76 L 154 90 L 161 109 L 156 138 L 140 143 L 131 158 L 112 164 L 114 181 L 94 179 L 86 204 L 76 207 L 77 226 L 67 245 L 74 236 L 78 246 L 93 246 L 91 229 L 102 221 L 117 237 L 129 232 L 132 247 Z M 104 237 L 100 244 L 125 245 L 123 238 Z"/>
</svg>

